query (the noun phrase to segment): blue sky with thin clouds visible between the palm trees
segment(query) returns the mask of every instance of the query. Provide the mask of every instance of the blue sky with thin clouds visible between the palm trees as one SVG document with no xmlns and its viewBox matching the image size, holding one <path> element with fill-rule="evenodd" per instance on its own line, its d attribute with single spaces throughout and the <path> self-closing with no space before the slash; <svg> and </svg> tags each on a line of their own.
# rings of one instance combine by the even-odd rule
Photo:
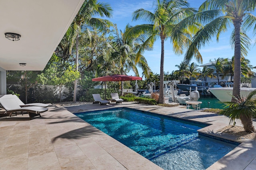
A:
<svg viewBox="0 0 256 170">
<path fill-rule="evenodd" d="M 190 7 L 198 8 L 205 0 L 188 0 L 190 3 Z M 119 30 L 124 31 L 124 28 L 127 23 L 130 25 L 137 25 L 145 23 L 144 21 L 132 21 L 132 13 L 135 10 L 143 8 L 145 10 L 149 10 L 150 12 L 154 11 L 153 2 L 154 0 L 98 0 L 98 2 L 106 2 L 110 4 L 113 9 L 113 17 L 108 20 L 117 24 Z M 255 15 L 255 13 L 254 13 Z M 230 36 L 232 27 L 228 29 L 227 32 L 222 33 L 219 37 L 219 42 L 217 43 L 216 38 L 212 38 L 212 42 L 206 44 L 205 47 L 202 47 L 199 51 L 203 58 L 203 63 L 198 63 L 195 59 L 192 59 L 191 63 L 194 62 L 199 66 L 202 64 L 209 63 L 210 60 L 214 61 L 214 59 L 218 58 L 229 58 L 234 55 L 234 49 L 230 46 Z M 249 37 L 254 41 L 255 37 L 253 37 L 252 32 L 248 33 Z M 250 64 L 252 66 L 256 66 L 256 45 L 252 42 L 251 49 L 246 57 L 246 59 L 250 60 Z M 153 73 L 160 74 L 160 58 L 161 58 L 161 41 L 158 39 L 154 43 L 153 51 L 145 51 L 144 57 L 148 62 L 148 66 L 151 68 Z M 184 52 L 185 53 L 185 52 Z M 180 63 L 184 59 L 183 55 L 176 55 L 173 52 L 172 44 L 170 43 L 170 39 L 165 41 L 164 45 L 164 72 L 172 72 L 173 70 L 178 70 L 178 67 L 175 65 L 180 65 Z M 202 67 L 198 67 L 202 68 Z M 138 68 L 140 76 L 142 76 L 142 70 Z M 256 69 L 252 70 L 256 72 Z M 129 72 L 128 75 L 134 76 L 134 72 Z"/>
</svg>

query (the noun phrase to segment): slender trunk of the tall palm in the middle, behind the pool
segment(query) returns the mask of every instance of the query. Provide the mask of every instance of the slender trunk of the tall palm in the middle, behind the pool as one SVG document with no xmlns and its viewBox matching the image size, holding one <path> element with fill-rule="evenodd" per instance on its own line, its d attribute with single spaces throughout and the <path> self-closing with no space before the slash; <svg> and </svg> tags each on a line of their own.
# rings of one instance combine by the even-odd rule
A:
<svg viewBox="0 0 256 170">
<path fill-rule="evenodd" d="M 164 37 L 161 33 L 160 89 L 158 103 L 164 103 Z"/>
</svg>

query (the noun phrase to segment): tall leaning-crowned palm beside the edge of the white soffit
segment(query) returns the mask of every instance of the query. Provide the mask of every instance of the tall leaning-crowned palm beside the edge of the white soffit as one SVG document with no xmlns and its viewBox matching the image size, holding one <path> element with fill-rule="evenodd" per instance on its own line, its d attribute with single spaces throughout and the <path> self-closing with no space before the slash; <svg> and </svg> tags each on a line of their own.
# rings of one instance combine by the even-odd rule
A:
<svg viewBox="0 0 256 170">
<path fill-rule="evenodd" d="M 112 8 L 109 4 L 97 3 L 97 0 L 85 0 L 78 14 L 71 23 L 67 31 L 67 36 L 70 39 L 70 53 L 72 51 L 72 47 L 76 45 L 76 71 L 78 71 L 78 46 L 81 31 L 86 31 L 90 36 L 90 27 L 104 30 L 111 25 L 110 21 L 93 18 L 93 16 L 106 16 L 109 18 L 112 16 Z M 78 79 L 74 82 L 73 102 L 76 102 L 77 82 Z"/>
</svg>

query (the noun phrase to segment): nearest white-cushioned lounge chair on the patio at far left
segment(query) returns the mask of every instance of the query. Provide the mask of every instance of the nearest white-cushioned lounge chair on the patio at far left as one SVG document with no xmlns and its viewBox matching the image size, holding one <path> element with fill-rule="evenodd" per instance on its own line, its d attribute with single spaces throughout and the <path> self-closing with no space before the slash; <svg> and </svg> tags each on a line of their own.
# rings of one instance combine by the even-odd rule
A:
<svg viewBox="0 0 256 170">
<path fill-rule="evenodd" d="M 27 112 L 30 119 L 35 116 L 40 116 L 40 113 L 43 113 L 48 110 L 48 108 L 45 107 L 39 107 L 39 106 L 26 106 L 26 107 L 20 107 L 16 100 L 10 95 L 4 95 L 0 98 L 0 104 L 2 107 L 4 107 L 6 116 L 11 116 L 12 113 L 16 112 Z"/>
</svg>

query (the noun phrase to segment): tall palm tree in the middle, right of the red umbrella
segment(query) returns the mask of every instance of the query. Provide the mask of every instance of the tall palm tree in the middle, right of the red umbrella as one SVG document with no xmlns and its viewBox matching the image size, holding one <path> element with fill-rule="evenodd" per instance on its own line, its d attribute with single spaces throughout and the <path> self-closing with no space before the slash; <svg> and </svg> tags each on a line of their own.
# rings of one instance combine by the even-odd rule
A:
<svg viewBox="0 0 256 170">
<path fill-rule="evenodd" d="M 160 94 L 159 103 L 164 103 L 164 41 L 170 38 L 176 54 L 182 54 L 184 47 L 190 42 L 192 29 L 189 16 L 194 14 L 193 8 L 188 8 L 186 0 L 156 0 L 154 13 L 139 9 L 133 13 L 133 21 L 144 20 L 147 23 L 136 25 L 126 32 L 127 37 L 145 35 L 146 40 L 137 53 L 137 59 L 147 47 L 153 47 L 154 42 L 161 39 L 161 62 L 160 62 Z M 196 28 L 196 27 L 194 27 Z"/>
</svg>

